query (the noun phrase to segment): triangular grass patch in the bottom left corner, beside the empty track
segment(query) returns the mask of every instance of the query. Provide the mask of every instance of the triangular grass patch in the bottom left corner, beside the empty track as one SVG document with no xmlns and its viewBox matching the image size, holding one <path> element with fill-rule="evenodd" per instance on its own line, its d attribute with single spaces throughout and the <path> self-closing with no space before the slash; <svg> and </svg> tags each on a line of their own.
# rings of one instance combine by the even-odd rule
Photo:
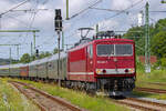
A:
<svg viewBox="0 0 166 111">
<path fill-rule="evenodd" d="M 40 111 L 14 90 L 6 79 L 0 79 L 0 111 Z"/>
</svg>

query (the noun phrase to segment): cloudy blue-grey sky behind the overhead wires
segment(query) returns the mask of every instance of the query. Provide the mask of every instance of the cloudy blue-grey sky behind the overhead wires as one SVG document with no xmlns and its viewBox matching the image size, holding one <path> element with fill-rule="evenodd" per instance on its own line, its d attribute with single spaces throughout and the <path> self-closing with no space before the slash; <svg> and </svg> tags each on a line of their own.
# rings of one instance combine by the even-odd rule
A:
<svg viewBox="0 0 166 111">
<path fill-rule="evenodd" d="M 100 2 L 93 6 L 97 1 Z M 24 2 L 22 6 L 8 12 L 22 2 Z M 40 52 L 52 52 L 58 47 L 58 34 L 54 31 L 54 9 L 62 10 L 64 44 L 72 46 L 81 39 L 79 28 L 95 29 L 98 23 L 101 31 L 127 31 L 128 28 L 137 26 L 137 14 L 141 11 L 145 12 L 146 2 L 149 2 L 149 11 L 166 11 L 166 3 L 160 3 L 160 0 L 69 0 L 70 18 L 77 16 L 65 20 L 66 0 L 0 0 L 0 14 L 7 12 L 1 16 L 0 30 L 40 30 L 37 32 L 35 48 Z M 90 6 L 93 7 L 89 8 Z M 166 12 L 151 12 L 149 22 L 155 23 L 165 17 Z M 91 31 L 89 36 L 92 37 L 94 33 L 95 30 Z M 0 44 L 20 46 L 19 56 L 17 47 L 0 46 L 0 58 L 8 59 L 10 48 L 13 59 L 20 58 L 23 53 L 31 53 L 31 42 L 33 43 L 33 33 L 31 32 L 1 32 Z"/>
</svg>

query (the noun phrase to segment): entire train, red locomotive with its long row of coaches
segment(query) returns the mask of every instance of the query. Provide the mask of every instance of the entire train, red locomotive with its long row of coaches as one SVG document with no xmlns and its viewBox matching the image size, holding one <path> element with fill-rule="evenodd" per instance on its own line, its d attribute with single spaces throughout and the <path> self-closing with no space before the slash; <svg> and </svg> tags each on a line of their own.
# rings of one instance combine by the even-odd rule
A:
<svg viewBox="0 0 166 111">
<path fill-rule="evenodd" d="M 68 88 L 123 94 L 135 88 L 135 43 L 111 36 L 82 39 L 75 47 L 61 52 L 60 75 L 58 54 L 25 64 L 0 65 L 0 75 L 53 81 L 60 78 Z"/>
</svg>

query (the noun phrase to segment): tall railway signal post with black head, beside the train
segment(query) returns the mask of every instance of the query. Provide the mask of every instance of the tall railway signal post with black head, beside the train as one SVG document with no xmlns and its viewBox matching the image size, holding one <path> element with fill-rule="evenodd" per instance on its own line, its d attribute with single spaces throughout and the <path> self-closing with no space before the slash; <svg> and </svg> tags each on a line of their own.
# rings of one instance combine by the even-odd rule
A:
<svg viewBox="0 0 166 111">
<path fill-rule="evenodd" d="M 61 9 L 55 9 L 55 18 L 54 18 L 54 27 L 55 31 L 58 32 L 58 53 L 59 53 L 59 60 L 58 60 L 58 79 L 59 79 L 59 85 L 61 85 L 61 77 L 60 77 L 60 41 L 61 41 L 61 32 L 62 32 L 62 17 L 61 17 Z"/>
</svg>

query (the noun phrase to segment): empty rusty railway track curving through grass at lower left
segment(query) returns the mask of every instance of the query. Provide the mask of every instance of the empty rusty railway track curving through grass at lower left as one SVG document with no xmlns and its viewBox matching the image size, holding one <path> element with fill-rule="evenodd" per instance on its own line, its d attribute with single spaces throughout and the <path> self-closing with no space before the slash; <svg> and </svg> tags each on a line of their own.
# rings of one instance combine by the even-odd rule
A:
<svg viewBox="0 0 166 111">
<path fill-rule="evenodd" d="M 50 95 L 41 90 L 38 90 L 27 83 L 18 81 L 9 81 L 13 84 L 21 93 L 32 100 L 41 111 L 85 111 L 66 102 L 60 98 Z"/>
</svg>

